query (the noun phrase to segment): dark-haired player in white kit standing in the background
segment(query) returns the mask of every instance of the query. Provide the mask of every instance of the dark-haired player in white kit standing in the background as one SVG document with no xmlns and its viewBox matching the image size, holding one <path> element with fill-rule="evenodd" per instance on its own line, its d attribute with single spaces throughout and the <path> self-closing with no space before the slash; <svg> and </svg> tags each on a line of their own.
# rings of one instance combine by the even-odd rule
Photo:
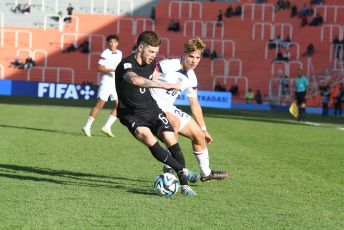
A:
<svg viewBox="0 0 344 230">
<path fill-rule="evenodd" d="M 122 60 L 122 52 L 117 49 L 118 40 L 119 38 L 117 35 L 109 35 L 106 38 L 107 45 L 109 48 L 103 51 L 98 61 L 97 70 L 103 73 L 98 90 L 98 101 L 97 104 L 91 110 L 86 125 L 82 128 L 82 131 L 88 137 L 92 136 L 91 125 L 94 119 L 96 118 L 98 112 L 104 107 L 105 103 L 108 101 L 109 97 L 111 101 L 115 102 L 116 107 L 112 110 L 107 122 L 101 128 L 101 131 L 109 137 L 115 137 L 111 132 L 111 126 L 117 119 L 118 106 L 118 97 L 115 83 L 115 70 L 117 65 Z"/>
</svg>

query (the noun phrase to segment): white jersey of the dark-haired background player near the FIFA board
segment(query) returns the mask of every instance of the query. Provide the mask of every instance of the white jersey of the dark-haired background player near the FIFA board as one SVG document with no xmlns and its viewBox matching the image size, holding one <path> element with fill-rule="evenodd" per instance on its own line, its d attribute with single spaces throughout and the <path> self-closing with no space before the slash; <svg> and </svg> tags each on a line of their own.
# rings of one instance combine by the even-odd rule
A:
<svg viewBox="0 0 344 230">
<path fill-rule="evenodd" d="M 110 49 L 106 49 L 100 55 L 98 64 L 104 66 L 107 69 L 116 69 L 117 65 L 122 61 L 122 52 L 116 50 L 115 53 L 112 53 Z M 107 75 L 109 77 L 115 77 L 115 72 L 103 73 L 103 76 Z"/>
</svg>

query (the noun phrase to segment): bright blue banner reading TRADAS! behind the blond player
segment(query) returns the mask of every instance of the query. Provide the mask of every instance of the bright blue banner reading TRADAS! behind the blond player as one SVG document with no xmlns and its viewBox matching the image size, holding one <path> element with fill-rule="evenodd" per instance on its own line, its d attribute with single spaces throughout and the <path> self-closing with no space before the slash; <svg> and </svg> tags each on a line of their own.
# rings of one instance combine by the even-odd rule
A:
<svg viewBox="0 0 344 230">
<path fill-rule="evenodd" d="M 232 93 L 229 92 L 213 92 L 201 91 L 197 93 L 197 98 L 202 107 L 230 109 L 232 101 Z M 190 105 L 189 100 L 183 91 L 179 94 L 174 105 Z"/>
</svg>

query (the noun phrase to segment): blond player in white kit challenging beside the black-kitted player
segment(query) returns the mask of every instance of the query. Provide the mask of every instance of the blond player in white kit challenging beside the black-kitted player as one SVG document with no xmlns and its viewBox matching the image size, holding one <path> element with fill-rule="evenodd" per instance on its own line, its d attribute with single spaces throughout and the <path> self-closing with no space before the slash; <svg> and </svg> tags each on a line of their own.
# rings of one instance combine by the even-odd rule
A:
<svg viewBox="0 0 344 230">
<path fill-rule="evenodd" d="M 179 133 L 192 141 L 193 153 L 198 162 L 202 182 L 228 177 L 228 172 L 226 171 L 213 171 L 209 168 L 207 143 L 210 144 L 213 139 L 207 131 L 202 108 L 197 99 L 198 82 L 194 72 L 201 60 L 205 47 L 204 42 L 199 37 L 190 39 L 184 44 L 184 53 L 181 60 L 163 60 L 157 64 L 156 68 L 160 72 L 160 77 L 156 81 L 179 83 L 181 90 L 186 91 L 195 120 L 173 105 L 181 91 L 150 88 L 152 97 L 165 112 L 167 119 L 172 124 L 176 138 L 178 138 Z M 164 172 L 173 171 L 168 165 L 165 165 Z"/>
</svg>

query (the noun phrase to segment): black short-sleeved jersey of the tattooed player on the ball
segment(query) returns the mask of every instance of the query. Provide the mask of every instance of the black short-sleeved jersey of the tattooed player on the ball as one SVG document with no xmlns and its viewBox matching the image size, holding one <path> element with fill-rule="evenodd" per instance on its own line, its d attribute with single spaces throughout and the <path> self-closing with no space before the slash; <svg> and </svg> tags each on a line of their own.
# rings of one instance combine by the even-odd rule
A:
<svg viewBox="0 0 344 230">
<path fill-rule="evenodd" d="M 118 95 L 118 117 L 128 114 L 144 114 L 158 108 L 148 88 L 131 85 L 123 76 L 127 72 L 134 72 L 140 77 L 152 78 L 156 61 L 147 65 L 137 63 L 134 54 L 124 58 L 116 67 L 116 90 Z"/>
</svg>

